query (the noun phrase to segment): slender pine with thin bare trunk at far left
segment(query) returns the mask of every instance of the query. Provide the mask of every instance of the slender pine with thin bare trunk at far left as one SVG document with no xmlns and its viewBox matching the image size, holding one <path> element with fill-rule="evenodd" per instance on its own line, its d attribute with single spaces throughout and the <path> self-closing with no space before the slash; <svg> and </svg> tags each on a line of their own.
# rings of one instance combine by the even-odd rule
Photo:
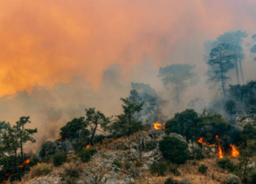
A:
<svg viewBox="0 0 256 184">
<path fill-rule="evenodd" d="M 16 126 L 13 126 L 14 132 L 16 132 L 20 144 L 21 157 L 24 155 L 24 144 L 27 143 L 27 141 L 36 143 L 36 140 L 33 138 L 33 134 L 37 132 L 37 129 L 25 129 L 27 123 L 31 123 L 29 116 L 21 117 L 20 120 L 16 122 Z"/>
</svg>

